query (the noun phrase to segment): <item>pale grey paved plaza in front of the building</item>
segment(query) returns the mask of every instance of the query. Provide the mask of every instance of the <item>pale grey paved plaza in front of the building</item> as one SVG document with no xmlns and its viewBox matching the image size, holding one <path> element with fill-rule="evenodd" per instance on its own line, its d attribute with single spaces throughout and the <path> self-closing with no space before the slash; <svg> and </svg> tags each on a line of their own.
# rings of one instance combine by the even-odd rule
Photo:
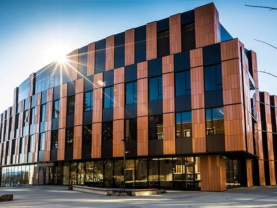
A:
<svg viewBox="0 0 277 208">
<path fill-rule="evenodd" d="M 277 186 L 228 189 L 223 192 L 171 191 L 162 195 L 112 197 L 68 190 L 67 186 L 0 188 L 14 200 L 0 207 L 277 207 Z"/>
</svg>

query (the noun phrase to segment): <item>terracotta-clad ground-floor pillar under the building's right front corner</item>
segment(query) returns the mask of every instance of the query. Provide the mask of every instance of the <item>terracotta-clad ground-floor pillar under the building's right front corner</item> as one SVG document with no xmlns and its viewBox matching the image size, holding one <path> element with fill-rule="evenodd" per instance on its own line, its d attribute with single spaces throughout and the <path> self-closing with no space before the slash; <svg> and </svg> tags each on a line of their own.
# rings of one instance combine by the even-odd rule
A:
<svg viewBox="0 0 277 208">
<path fill-rule="evenodd" d="M 201 191 L 225 191 L 226 162 L 221 155 L 202 155 L 201 157 Z"/>
</svg>

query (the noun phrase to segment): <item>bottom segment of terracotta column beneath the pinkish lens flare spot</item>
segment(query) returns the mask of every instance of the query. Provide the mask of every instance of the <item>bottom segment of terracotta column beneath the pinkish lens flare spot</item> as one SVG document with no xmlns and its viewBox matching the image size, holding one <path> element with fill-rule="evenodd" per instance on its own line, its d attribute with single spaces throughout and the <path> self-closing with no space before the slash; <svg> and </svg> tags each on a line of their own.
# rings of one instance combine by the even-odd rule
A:
<svg viewBox="0 0 277 208">
<path fill-rule="evenodd" d="M 101 139 L 102 139 L 102 124 L 92 124 L 92 158 L 101 158 Z"/>
</svg>

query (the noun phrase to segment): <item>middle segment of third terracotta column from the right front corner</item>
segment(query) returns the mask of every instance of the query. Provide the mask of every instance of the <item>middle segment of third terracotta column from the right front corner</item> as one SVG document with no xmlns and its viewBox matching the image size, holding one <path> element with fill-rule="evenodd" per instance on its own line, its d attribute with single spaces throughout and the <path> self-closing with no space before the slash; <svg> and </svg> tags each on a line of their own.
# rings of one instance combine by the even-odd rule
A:
<svg viewBox="0 0 277 208">
<path fill-rule="evenodd" d="M 175 111 L 174 73 L 163 74 L 163 113 Z"/>
</svg>

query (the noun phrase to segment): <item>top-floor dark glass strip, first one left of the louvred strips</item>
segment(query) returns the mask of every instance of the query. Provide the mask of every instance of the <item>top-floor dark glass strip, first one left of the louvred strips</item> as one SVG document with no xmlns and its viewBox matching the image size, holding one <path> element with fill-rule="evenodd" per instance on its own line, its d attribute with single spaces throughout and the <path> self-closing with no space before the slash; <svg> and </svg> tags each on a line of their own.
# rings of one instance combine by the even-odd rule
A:
<svg viewBox="0 0 277 208">
<path fill-rule="evenodd" d="M 134 62 L 146 61 L 146 25 L 134 28 Z"/>
</svg>

